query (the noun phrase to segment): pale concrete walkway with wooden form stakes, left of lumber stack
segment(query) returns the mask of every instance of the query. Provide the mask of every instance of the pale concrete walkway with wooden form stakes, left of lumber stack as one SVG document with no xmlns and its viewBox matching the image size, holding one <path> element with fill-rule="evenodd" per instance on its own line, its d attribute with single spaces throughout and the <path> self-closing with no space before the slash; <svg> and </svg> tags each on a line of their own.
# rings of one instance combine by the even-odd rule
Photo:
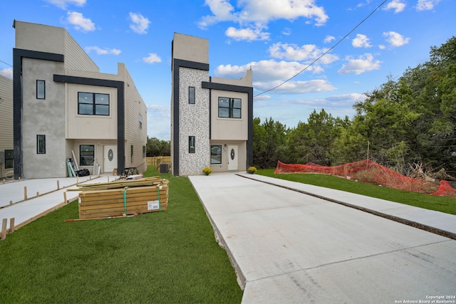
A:
<svg viewBox="0 0 456 304">
<path fill-rule="evenodd" d="M 14 218 L 14 227 L 19 229 L 40 216 L 77 199 L 78 191 L 68 191 L 68 189 L 77 189 L 76 184 L 108 182 L 115 179 L 118 177 L 100 175 L 58 179 L 24 179 L 20 182 L 0 184 L 0 221 L 7 219 L 7 230 L 11 231 L 11 219 Z M 10 201 L 13 204 L 10 205 Z"/>
</svg>

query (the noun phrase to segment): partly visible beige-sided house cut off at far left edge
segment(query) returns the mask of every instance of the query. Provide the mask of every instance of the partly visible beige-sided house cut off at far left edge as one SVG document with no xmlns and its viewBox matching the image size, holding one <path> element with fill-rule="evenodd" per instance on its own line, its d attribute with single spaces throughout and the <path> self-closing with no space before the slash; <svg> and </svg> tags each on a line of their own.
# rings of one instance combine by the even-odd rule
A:
<svg viewBox="0 0 456 304">
<path fill-rule="evenodd" d="M 13 80 L 0 75 L 0 178 L 13 176 Z"/>
</svg>

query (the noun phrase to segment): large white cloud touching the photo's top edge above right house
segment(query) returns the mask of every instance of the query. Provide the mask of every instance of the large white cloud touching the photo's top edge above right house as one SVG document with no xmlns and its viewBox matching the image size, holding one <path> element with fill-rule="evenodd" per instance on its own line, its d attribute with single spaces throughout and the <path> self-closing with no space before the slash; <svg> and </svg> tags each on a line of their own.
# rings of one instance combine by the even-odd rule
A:
<svg viewBox="0 0 456 304">
<path fill-rule="evenodd" d="M 317 26 L 328 20 L 322 6 L 316 6 L 316 0 L 242 0 L 238 1 L 236 10 L 227 0 L 206 0 L 212 15 L 203 16 L 199 27 L 207 28 L 222 21 L 233 21 L 239 24 L 261 23 L 286 19 L 292 21 L 298 18 L 313 19 Z"/>
</svg>

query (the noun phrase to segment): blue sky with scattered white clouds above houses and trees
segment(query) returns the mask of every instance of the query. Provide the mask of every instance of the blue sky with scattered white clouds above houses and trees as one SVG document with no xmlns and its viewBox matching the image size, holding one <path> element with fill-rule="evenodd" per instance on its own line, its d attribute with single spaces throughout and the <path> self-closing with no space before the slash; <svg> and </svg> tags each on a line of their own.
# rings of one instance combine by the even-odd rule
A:
<svg viewBox="0 0 456 304">
<path fill-rule="evenodd" d="M 272 117 L 295 127 L 322 108 L 334 117 L 353 117 L 352 106 L 363 93 L 388 75 L 397 79 L 406 68 L 424 63 L 430 46 L 456 34 L 455 0 L 382 3 L 2 0 L 0 74 L 12 78 L 14 19 L 66 28 L 100 72 L 117 73 L 117 63 L 125 63 L 147 104 L 147 135 L 169 140 L 171 41 L 177 32 L 209 39 L 212 76 L 237 79 L 252 68 L 254 117 L 261 121 Z"/>
</svg>

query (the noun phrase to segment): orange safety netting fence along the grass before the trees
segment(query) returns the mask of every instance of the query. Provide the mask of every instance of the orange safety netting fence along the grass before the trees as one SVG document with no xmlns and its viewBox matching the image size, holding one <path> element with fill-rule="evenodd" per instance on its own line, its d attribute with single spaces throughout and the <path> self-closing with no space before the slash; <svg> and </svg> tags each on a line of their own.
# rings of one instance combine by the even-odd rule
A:
<svg viewBox="0 0 456 304">
<path fill-rule="evenodd" d="M 370 159 L 341 164 L 340 166 L 334 167 L 325 167 L 311 162 L 307 164 L 284 164 L 279 161 L 277 162 L 274 173 L 331 174 L 346 179 L 353 179 L 358 182 L 380 184 L 394 189 L 456 198 L 456 189 L 452 188 L 446 181 L 440 181 L 439 185 L 424 179 L 406 177 L 405 175 L 388 169 L 387 167 L 383 167 L 381 164 L 377 164 Z"/>
</svg>

